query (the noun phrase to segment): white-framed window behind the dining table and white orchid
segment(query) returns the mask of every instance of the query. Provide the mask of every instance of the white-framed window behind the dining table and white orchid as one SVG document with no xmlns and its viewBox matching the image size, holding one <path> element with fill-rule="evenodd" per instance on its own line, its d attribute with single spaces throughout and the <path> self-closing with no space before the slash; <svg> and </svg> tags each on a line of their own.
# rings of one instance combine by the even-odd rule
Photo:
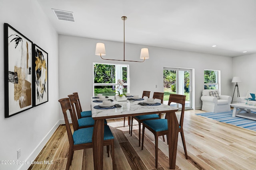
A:
<svg viewBox="0 0 256 170">
<path fill-rule="evenodd" d="M 124 88 L 120 93 L 129 91 L 129 65 L 93 63 L 93 94 L 114 96 L 118 80 L 123 81 Z"/>
</svg>

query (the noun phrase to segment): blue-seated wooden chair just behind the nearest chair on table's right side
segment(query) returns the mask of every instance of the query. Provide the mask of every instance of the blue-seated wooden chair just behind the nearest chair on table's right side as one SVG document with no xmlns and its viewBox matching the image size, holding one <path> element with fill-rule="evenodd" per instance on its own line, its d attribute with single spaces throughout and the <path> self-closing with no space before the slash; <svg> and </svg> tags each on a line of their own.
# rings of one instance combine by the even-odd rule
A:
<svg viewBox="0 0 256 170">
<path fill-rule="evenodd" d="M 159 99 L 161 100 L 161 104 L 164 102 L 164 93 L 163 92 L 154 92 L 153 94 L 153 99 Z M 131 136 L 132 136 L 132 123 L 133 119 L 138 121 L 139 125 L 139 147 L 140 147 L 140 130 L 141 130 L 141 123 L 145 120 L 150 120 L 150 119 L 161 119 L 161 113 L 159 114 L 149 114 L 149 115 L 140 115 L 140 116 L 132 116 L 132 121 L 131 121 Z M 164 136 L 163 136 L 164 140 Z"/>
</svg>

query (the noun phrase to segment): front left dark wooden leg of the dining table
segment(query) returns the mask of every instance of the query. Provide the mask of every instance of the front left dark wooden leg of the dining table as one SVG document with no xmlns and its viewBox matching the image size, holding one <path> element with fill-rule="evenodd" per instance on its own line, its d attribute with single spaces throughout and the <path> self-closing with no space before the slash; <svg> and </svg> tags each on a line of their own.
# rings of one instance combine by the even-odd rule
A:
<svg viewBox="0 0 256 170">
<path fill-rule="evenodd" d="M 104 119 L 95 120 L 92 134 L 94 170 L 103 170 L 103 139 Z"/>
</svg>

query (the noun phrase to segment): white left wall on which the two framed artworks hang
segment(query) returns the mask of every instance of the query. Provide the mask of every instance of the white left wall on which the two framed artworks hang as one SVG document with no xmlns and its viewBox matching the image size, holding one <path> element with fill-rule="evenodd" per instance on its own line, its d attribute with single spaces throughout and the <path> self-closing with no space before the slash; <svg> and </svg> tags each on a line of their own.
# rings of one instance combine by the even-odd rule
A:
<svg viewBox="0 0 256 170">
<path fill-rule="evenodd" d="M 34 0 L 0 0 L 0 160 L 14 160 L 14 165 L 0 164 L 0 170 L 28 169 L 18 161 L 31 161 L 59 124 L 58 34 Z M 48 52 L 49 102 L 9 118 L 4 118 L 4 23 L 25 35 Z M 49 134 L 48 134 L 49 133 Z M 21 157 L 17 159 L 17 150 Z"/>
</svg>

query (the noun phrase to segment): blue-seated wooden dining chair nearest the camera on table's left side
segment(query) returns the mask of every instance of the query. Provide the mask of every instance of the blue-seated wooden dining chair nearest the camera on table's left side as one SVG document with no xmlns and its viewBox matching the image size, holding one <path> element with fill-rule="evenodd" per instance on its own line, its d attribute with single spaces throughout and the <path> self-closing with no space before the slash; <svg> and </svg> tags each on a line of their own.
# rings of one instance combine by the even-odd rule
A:
<svg viewBox="0 0 256 170">
<path fill-rule="evenodd" d="M 60 102 L 60 105 L 62 108 L 66 129 L 68 133 L 69 150 L 68 150 L 68 161 L 66 164 L 66 170 L 69 170 L 72 159 L 73 159 L 74 150 L 92 148 L 93 127 L 87 127 L 87 128 L 77 129 L 77 130 L 74 129 L 74 133 L 72 134 L 71 127 L 68 121 L 68 116 L 67 116 L 67 111 L 69 111 L 70 116 L 74 117 L 73 109 L 70 104 L 70 99 L 63 98 L 58 101 Z M 108 157 L 109 157 L 109 145 L 111 145 L 112 167 L 114 170 L 114 136 L 108 125 L 104 126 L 103 145 L 107 146 Z"/>
</svg>

